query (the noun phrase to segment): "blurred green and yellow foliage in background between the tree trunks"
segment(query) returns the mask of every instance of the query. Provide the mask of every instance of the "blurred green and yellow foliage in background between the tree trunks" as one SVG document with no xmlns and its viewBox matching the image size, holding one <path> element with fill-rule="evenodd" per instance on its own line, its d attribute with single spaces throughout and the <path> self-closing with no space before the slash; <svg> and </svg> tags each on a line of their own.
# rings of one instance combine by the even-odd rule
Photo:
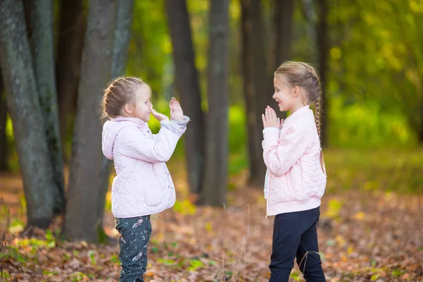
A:
<svg viewBox="0 0 423 282">
<path fill-rule="evenodd" d="M 271 50 L 271 3 L 262 1 L 266 35 L 263 44 L 269 50 L 266 56 L 270 56 Z M 306 18 L 305 6 L 300 3 L 308 2 L 296 3 L 292 56 L 317 66 L 316 11 L 308 11 Z M 188 0 L 204 111 L 207 111 L 208 9 L 207 0 Z M 168 101 L 178 94 L 173 84 L 172 44 L 164 0 L 135 1 L 133 13 L 133 37 L 125 74 L 146 80 L 152 87 L 154 107 L 168 114 Z M 247 165 L 239 0 L 231 1 L 229 16 L 228 148 L 233 174 Z M 423 126 L 423 37 L 420 36 L 423 0 L 329 0 L 328 20 L 330 50 L 325 92 L 329 98 L 329 146 L 332 149 L 416 147 L 417 132 Z M 152 118 L 150 127 L 157 132 L 159 122 Z M 10 119 L 6 131 L 13 144 Z M 67 140 L 65 149 L 69 155 L 71 139 Z M 176 156 L 183 156 L 183 140 L 176 148 Z M 9 161 L 13 170 L 18 169 L 16 152 L 10 154 Z"/>
</svg>

